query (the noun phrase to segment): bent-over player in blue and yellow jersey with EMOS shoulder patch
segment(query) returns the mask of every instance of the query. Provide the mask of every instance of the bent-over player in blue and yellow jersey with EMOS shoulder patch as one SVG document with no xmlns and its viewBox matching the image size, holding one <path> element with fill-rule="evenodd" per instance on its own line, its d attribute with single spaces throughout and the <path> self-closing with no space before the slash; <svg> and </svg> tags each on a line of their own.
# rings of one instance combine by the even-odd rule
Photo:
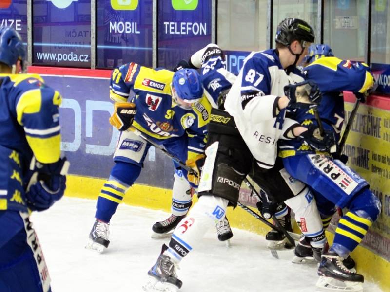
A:
<svg viewBox="0 0 390 292">
<path fill-rule="evenodd" d="M 196 168 L 196 161 L 204 157 L 211 110 L 194 69 L 173 72 L 125 64 L 112 73 L 110 98 L 116 102 L 110 122 L 121 133 L 114 153 L 115 165 L 99 194 L 96 221 L 87 245 L 98 252 L 108 247 L 111 217 L 126 190 L 137 180 L 151 146 L 130 129 L 163 145 L 181 161 L 194 163 Z M 197 186 L 197 177 L 187 176 L 184 169 L 176 167 L 174 178 L 173 193 L 178 203 L 175 207 L 180 207 L 176 214 L 180 216 L 191 205 L 190 187 Z"/>
</svg>

